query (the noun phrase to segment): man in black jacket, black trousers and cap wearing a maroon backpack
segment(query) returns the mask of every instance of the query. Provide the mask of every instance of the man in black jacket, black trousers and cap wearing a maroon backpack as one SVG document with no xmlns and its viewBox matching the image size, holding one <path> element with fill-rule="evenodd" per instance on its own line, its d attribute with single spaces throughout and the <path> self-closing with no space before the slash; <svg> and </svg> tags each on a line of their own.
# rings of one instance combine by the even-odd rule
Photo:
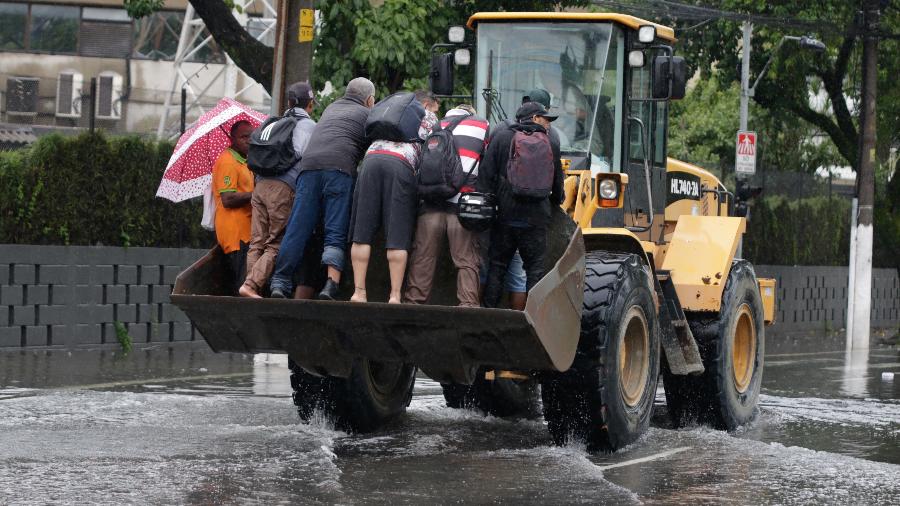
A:
<svg viewBox="0 0 900 506">
<path fill-rule="evenodd" d="M 498 216 L 491 230 L 490 266 L 484 288 L 483 304 L 496 307 L 503 291 L 503 277 L 516 250 L 525 265 L 526 288 L 531 288 L 544 276 L 544 255 L 547 249 L 547 226 L 551 205 L 558 206 L 564 198 L 563 171 L 560 162 L 559 143 L 553 142 L 547 132 L 550 123 L 557 118 L 553 111 L 537 102 L 526 102 L 516 111 L 517 123 L 495 134 L 488 144 L 480 174 L 478 191 L 497 196 Z M 521 135 L 520 135 L 521 134 Z M 520 157 L 518 148 L 523 139 L 530 138 L 538 146 L 531 158 L 511 166 L 511 154 Z M 543 147 L 540 145 L 543 144 Z M 512 148 L 512 149 L 511 149 Z M 515 151 L 515 153 L 511 153 Z M 524 157 L 525 155 L 521 155 Z M 550 174 L 552 183 L 545 197 L 527 196 L 511 183 L 527 167 L 535 180 Z"/>
</svg>

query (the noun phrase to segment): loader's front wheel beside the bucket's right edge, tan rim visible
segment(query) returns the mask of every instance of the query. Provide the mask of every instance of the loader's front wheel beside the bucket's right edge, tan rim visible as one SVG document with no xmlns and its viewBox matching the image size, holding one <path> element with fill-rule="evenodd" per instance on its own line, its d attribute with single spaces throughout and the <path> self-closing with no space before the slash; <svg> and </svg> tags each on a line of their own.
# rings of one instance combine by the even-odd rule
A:
<svg viewBox="0 0 900 506">
<path fill-rule="evenodd" d="M 650 268 L 634 254 L 588 253 L 581 338 L 572 367 L 541 380 L 544 419 L 556 444 L 582 440 L 614 451 L 650 424 L 659 335 Z"/>
</svg>

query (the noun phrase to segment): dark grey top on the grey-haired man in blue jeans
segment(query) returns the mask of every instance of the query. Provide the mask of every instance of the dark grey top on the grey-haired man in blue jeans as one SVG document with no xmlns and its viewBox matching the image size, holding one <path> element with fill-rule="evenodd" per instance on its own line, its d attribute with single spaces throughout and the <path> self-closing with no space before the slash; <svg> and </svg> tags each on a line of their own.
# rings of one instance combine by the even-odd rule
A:
<svg viewBox="0 0 900 506">
<path fill-rule="evenodd" d="M 366 119 L 369 108 L 354 97 L 343 97 L 329 105 L 316 124 L 300 172 L 306 170 L 340 170 L 356 177 L 369 141 L 366 139 Z"/>
</svg>

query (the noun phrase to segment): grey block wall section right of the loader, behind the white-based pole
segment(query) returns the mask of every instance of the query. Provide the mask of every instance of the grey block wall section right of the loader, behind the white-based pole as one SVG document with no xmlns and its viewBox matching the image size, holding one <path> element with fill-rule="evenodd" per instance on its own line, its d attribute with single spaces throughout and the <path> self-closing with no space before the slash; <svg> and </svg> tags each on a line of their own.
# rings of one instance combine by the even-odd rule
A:
<svg viewBox="0 0 900 506">
<path fill-rule="evenodd" d="M 777 282 L 773 332 L 837 330 L 847 321 L 847 268 L 757 265 L 757 277 Z M 900 277 L 872 272 L 872 327 L 900 326 Z"/>
</svg>

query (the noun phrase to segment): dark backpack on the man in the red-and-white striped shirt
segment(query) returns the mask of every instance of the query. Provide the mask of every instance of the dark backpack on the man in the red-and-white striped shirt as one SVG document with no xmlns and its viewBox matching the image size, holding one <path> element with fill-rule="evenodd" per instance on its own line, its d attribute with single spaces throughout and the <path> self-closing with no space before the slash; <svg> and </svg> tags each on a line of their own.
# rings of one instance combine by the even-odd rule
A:
<svg viewBox="0 0 900 506">
<path fill-rule="evenodd" d="M 441 128 L 438 122 L 425 139 L 417 176 L 419 196 L 423 199 L 429 202 L 447 200 L 459 193 L 459 189 L 465 184 L 468 174 L 463 172 L 462 160 L 453 139 L 453 129 L 470 116 L 453 118 L 447 128 Z M 472 171 L 474 170 L 473 165 Z"/>
</svg>

